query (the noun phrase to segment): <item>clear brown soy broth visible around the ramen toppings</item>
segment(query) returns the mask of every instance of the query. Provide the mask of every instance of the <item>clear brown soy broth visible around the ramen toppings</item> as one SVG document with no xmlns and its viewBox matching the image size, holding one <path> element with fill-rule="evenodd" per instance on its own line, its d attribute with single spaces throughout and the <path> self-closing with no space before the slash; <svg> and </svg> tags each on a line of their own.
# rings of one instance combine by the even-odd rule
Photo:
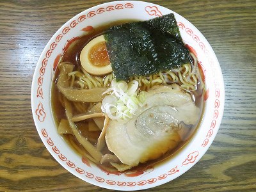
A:
<svg viewBox="0 0 256 192">
<path fill-rule="evenodd" d="M 111 26 L 115 26 L 115 25 L 122 24 L 125 22 L 131 22 L 131 21 L 133 21 L 133 20 L 118 20 L 116 22 L 106 24 L 99 28 L 92 29 L 91 31 L 89 31 L 88 34 L 86 34 L 84 36 L 77 37 L 77 40 L 75 40 L 70 45 L 70 47 L 68 47 L 67 51 L 63 54 L 61 62 L 67 61 L 67 62 L 73 63 L 74 70 L 81 71 L 81 67 L 80 67 L 81 63 L 79 60 L 79 55 L 80 55 L 81 50 L 83 49 L 84 45 L 86 45 L 88 42 L 90 42 L 90 40 L 92 40 L 92 38 L 94 38 L 95 36 L 104 34 L 104 31 L 106 31 L 106 29 L 110 28 Z M 200 70 L 200 68 L 198 68 L 198 70 Z M 63 95 L 61 95 L 60 91 L 58 90 L 58 88 L 56 86 L 56 82 L 58 80 L 58 75 L 59 75 L 59 70 L 57 69 L 54 73 L 54 81 L 52 81 L 52 89 L 51 89 L 52 113 L 53 113 L 57 128 L 58 128 L 58 125 L 60 124 L 60 120 L 62 118 L 66 118 L 65 108 L 63 107 L 64 104 L 61 101 L 61 97 L 63 97 Z M 191 92 L 191 94 L 195 97 L 196 106 L 198 108 L 200 108 L 200 116 L 201 117 L 199 118 L 198 122 L 195 125 L 193 125 L 193 127 L 191 127 L 190 130 L 186 133 L 186 136 L 184 136 L 185 139 L 182 140 L 175 149 L 166 152 L 166 154 L 164 154 L 159 159 L 156 159 L 153 161 L 148 161 L 147 163 L 139 164 L 138 166 L 129 170 L 129 172 L 136 171 L 136 170 L 137 171 L 143 170 L 143 169 L 147 168 L 148 166 L 153 166 L 153 165 L 156 166 L 157 164 L 161 164 L 160 162 L 164 162 L 166 159 L 170 159 L 170 158 L 176 156 L 179 153 L 179 151 L 182 150 L 182 148 L 184 148 L 184 146 L 187 145 L 189 140 L 191 140 L 191 138 L 193 138 L 193 136 L 195 135 L 196 129 L 198 128 L 198 125 L 200 124 L 200 122 L 202 120 L 202 113 L 204 112 L 204 98 L 203 98 L 204 88 L 202 85 L 202 79 L 200 79 L 200 82 L 197 85 L 196 91 Z M 76 108 L 73 108 L 73 113 L 78 114 L 79 111 L 76 111 Z M 76 123 L 76 125 L 80 129 L 81 134 L 84 137 L 86 137 L 93 145 L 96 145 L 97 138 L 99 138 L 100 131 L 95 131 L 95 132 L 93 132 L 93 134 L 90 133 L 88 131 L 88 129 L 89 129 L 88 125 L 89 125 L 90 121 L 92 121 L 92 120 L 84 120 L 83 122 Z M 62 137 L 68 143 L 68 145 L 70 145 L 70 147 L 77 152 L 77 154 L 79 154 L 82 157 L 84 156 L 84 153 L 86 153 L 86 150 L 84 150 L 84 148 L 81 146 L 81 144 L 76 140 L 76 138 L 72 134 L 63 134 Z M 109 154 L 111 154 L 111 152 L 108 150 L 107 147 L 104 148 L 104 152 L 108 152 Z M 111 168 L 110 164 L 104 164 L 104 165 L 99 164 L 99 166 L 100 166 L 100 168 L 106 169 L 109 172 L 111 172 L 111 170 L 113 170 L 113 168 Z"/>
</svg>

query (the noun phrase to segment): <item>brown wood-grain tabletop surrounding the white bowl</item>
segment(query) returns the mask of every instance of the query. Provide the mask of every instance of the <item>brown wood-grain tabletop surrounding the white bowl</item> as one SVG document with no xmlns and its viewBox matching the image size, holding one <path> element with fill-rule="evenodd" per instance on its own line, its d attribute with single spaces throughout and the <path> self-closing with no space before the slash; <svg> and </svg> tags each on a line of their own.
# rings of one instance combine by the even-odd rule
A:
<svg viewBox="0 0 256 192">
<path fill-rule="evenodd" d="M 0 191 L 109 191 L 67 172 L 49 154 L 31 114 L 31 81 L 51 36 L 106 1 L 0 1 Z M 149 1 L 198 28 L 220 61 L 225 112 L 204 157 L 178 179 L 146 191 L 256 191 L 256 2 Z"/>
</svg>

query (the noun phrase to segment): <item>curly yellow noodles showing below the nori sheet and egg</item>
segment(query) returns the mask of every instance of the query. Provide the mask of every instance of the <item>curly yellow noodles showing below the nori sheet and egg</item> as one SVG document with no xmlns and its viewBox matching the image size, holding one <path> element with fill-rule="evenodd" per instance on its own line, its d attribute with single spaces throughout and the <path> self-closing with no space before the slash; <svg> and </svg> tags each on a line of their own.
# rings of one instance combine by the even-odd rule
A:
<svg viewBox="0 0 256 192">
<path fill-rule="evenodd" d="M 158 74 L 152 74 L 147 77 L 136 76 L 130 77 L 130 81 L 136 80 L 139 83 L 140 90 L 149 90 L 152 86 L 160 84 L 180 84 L 180 87 L 184 90 L 195 91 L 199 81 L 197 60 L 193 57 L 193 64 L 186 63 L 179 68 L 173 70 L 167 70 L 159 72 Z M 76 87 L 81 89 L 91 89 L 96 87 L 108 87 L 114 78 L 113 73 L 110 73 L 104 77 L 93 76 L 86 71 L 80 72 L 78 70 L 70 72 L 70 87 Z"/>
</svg>

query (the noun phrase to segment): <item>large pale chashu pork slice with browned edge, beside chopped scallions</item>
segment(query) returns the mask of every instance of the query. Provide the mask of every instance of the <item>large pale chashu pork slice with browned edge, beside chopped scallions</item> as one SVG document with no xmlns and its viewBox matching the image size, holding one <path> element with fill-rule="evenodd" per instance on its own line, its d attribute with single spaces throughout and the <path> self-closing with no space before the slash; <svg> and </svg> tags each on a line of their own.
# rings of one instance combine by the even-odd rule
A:
<svg viewBox="0 0 256 192">
<path fill-rule="evenodd" d="M 180 142 L 180 122 L 196 124 L 200 110 L 191 95 L 172 86 L 156 86 L 128 122 L 111 120 L 106 143 L 129 168 L 157 159 Z M 181 131 L 182 132 L 182 131 Z"/>
</svg>

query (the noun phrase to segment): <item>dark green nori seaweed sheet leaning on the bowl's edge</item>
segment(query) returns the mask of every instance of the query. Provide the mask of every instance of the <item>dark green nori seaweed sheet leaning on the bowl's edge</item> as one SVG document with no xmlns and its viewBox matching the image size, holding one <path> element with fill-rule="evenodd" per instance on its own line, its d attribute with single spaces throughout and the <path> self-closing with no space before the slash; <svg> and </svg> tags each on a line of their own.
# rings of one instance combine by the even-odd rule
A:
<svg viewBox="0 0 256 192">
<path fill-rule="evenodd" d="M 104 38 L 117 81 L 156 74 L 192 62 L 173 13 L 113 26 Z"/>
</svg>

